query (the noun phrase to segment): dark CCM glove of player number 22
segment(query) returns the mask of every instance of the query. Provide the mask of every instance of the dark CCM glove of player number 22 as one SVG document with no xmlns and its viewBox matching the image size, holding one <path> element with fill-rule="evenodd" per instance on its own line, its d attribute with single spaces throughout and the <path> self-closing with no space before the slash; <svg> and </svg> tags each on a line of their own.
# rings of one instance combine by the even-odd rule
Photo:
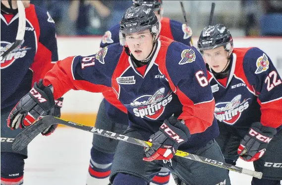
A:
<svg viewBox="0 0 282 185">
<path fill-rule="evenodd" d="M 256 161 L 261 158 L 276 132 L 276 128 L 263 126 L 260 122 L 253 123 L 238 147 L 240 158 L 244 161 Z"/>
</svg>

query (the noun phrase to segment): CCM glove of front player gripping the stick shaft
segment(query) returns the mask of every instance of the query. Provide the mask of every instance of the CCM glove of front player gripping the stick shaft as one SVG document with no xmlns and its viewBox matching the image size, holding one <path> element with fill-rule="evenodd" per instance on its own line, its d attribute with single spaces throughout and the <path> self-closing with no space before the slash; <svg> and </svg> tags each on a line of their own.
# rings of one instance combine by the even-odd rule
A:
<svg viewBox="0 0 282 185">
<path fill-rule="evenodd" d="M 185 124 L 170 117 L 165 120 L 155 134 L 150 136 L 152 147 L 145 148 L 144 161 L 169 160 L 174 155 L 178 146 L 188 140 L 190 131 Z"/>
</svg>

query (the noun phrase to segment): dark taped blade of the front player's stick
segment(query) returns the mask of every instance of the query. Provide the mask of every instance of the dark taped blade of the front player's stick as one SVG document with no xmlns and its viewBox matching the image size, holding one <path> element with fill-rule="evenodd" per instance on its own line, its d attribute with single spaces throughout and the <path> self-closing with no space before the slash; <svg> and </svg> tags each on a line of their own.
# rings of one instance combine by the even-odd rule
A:
<svg viewBox="0 0 282 185">
<path fill-rule="evenodd" d="M 25 128 L 13 140 L 12 149 L 14 151 L 23 150 L 38 134 L 43 132 L 44 129 L 46 129 L 48 126 L 50 126 L 50 123 L 44 123 L 41 119 Z"/>
</svg>

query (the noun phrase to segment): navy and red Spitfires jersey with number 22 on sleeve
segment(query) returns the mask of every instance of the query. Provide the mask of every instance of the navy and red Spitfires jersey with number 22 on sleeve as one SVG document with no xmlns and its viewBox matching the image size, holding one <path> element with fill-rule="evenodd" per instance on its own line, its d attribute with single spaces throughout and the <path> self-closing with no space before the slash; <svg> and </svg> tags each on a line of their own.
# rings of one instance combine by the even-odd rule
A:
<svg viewBox="0 0 282 185">
<path fill-rule="evenodd" d="M 258 48 L 235 48 L 230 65 L 225 79 L 208 72 L 216 119 L 238 128 L 281 126 L 282 80 L 270 58 Z"/>
</svg>

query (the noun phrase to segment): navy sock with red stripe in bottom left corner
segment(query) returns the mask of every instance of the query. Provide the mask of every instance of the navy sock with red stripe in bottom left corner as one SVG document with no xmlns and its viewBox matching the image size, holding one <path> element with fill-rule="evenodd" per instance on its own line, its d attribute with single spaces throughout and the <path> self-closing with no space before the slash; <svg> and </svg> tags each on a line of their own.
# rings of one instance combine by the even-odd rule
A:
<svg viewBox="0 0 282 185">
<path fill-rule="evenodd" d="M 26 156 L 1 152 L 1 185 L 22 185 Z"/>
</svg>

